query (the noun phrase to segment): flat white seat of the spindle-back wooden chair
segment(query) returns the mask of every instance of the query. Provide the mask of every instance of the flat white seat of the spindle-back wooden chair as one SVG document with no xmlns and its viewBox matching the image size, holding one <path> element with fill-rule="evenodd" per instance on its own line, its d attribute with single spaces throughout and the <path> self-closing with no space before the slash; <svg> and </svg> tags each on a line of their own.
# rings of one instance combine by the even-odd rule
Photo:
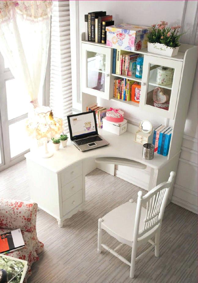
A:
<svg viewBox="0 0 198 283">
<path fill-rule="evenodd" d="M 132 246 L 137 203 L 126 202 L 102 217 L 101 228 L 119 242 Z M 142 207 L 140 229 L 144 227 L 146 209 Z"/>
</svg>

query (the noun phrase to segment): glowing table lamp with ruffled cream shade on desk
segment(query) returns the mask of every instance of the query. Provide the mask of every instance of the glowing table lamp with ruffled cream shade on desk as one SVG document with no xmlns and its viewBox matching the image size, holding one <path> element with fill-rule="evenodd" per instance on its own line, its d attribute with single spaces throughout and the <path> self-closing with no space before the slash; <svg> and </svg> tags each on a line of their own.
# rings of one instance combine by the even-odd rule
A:
<svg viewBox="0 0 198 283">
<path fill-rule="evenodd" d="M 43 158 L 53 156 L 53 152 L 48 152 L 47 141 L 63 131 L 63 120 L 53 117 L 50 107 L 41 106 L 34 110 L 34 116 L 26 121 L 28 135 L 43 142 Z"/>
</svg>

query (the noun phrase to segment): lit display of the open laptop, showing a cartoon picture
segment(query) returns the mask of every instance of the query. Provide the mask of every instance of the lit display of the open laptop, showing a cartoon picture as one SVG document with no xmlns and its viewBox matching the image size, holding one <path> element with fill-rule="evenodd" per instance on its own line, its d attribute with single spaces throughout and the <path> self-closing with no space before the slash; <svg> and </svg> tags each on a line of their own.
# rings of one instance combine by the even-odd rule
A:
<svg viewBox="0 0 198 283">
<path fill-rule="evenodd" d="M 95 121 L 93 113 L 70 117 L 72 136 L 95 132 Z"/>
</svg>

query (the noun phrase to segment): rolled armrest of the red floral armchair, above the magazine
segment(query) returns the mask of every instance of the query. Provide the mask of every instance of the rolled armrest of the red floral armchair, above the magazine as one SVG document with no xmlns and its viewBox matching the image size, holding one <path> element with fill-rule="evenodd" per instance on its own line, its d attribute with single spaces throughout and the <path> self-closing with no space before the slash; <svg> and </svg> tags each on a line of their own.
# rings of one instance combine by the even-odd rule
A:
<svg viewBox="0 0 198 283">
<path fill-rule="evenodd" d="M 33 232 L 36 228 L 37 203 L 0 199 L 0 227 Z"/>
</svg>

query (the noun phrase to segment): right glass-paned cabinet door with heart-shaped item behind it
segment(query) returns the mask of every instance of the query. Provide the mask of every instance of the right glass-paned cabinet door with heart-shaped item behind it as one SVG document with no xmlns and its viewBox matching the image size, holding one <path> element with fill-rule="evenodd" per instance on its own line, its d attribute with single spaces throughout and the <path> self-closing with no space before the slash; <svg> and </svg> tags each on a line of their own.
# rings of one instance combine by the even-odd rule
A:
<svg viewBox="0 0 198 283">
<path fill-rule="evenodd" d="M 182 62 L 144 56 L 140 107 L 174 119 Z"/>
</svg>

